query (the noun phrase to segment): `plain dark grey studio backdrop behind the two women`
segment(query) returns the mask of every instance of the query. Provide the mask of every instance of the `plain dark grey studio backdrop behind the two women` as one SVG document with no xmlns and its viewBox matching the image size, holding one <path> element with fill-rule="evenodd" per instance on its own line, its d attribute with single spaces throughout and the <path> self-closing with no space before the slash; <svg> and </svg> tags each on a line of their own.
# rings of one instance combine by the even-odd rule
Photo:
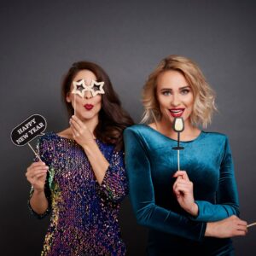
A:
<svg viewBox="0 0 256 256">
<path fill-rule="evenodd" d="M 48 219 L 26 207 L 26 166 L 33 154 L 10 142 L 10 131 L 32 113 L 47 131 L 67 127 L 61 78 L 74 61 L 105 68 L 124 107 L 138 122 L 148 74 L 170 54 L 196 61 L 217 92 L 210 131 L 230 137 L 241 218 L 256 221 L 256 4 L 254 1 L 1 1 L 1 255 L 39 255 Z M 129 198 L 120 224 L 128 255 L 144 255 L 146 229 Z M 255 255 L 256 227 L 234 239 L 236 255 Z"/>
</svg>

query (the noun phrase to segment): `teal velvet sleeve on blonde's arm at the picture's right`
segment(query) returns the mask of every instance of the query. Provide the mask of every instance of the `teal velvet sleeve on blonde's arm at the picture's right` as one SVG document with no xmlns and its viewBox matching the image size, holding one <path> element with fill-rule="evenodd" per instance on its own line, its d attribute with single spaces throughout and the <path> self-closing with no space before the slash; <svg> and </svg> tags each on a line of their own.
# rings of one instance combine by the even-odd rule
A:
<svg viewBox="0 0 256 256">
<path fill-rule="evenodd" d="M 218 221 L 231 215 L 239 216 L 239 203 L 236 189 L 234 165 L 230 150 L 230 143 L 225 137 L 224 154 L 221 161 L 216 193 L 216 204 L 208 201 L 195 201 L 199 208 L 198 221 Z"/>
</svg>

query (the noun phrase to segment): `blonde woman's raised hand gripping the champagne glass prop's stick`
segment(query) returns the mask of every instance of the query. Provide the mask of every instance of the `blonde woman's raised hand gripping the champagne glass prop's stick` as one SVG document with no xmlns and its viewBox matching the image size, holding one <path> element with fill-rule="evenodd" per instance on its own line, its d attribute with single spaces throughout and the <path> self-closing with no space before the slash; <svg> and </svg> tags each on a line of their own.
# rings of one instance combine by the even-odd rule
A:
<svg viewBox="0 0 256 256">
<path fill-rule="evenodd" d="M 198 206 L 194 200 L 193 183 L 189 180 L 187 172 L 177 171 L 173 177 L 177 177 L 172 188 L 179 205 L 186 212 L 196 217 L 198 215 Z"/>
</svg>

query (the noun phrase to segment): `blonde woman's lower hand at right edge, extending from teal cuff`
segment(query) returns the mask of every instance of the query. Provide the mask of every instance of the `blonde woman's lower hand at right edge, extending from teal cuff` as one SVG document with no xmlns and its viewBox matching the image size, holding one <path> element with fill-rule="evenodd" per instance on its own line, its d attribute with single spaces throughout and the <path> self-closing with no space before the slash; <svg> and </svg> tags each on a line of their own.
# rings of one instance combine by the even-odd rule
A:
<svg viewBox="0 0 256 256">
<path fill-rule="evenodd" d="M 245 236 L 247 234 L 247 222 L 232 215 L 229 218 L 217 222 L 207 223 L 205 236 L 228 238 L 232 236 Z"/>
</svg>

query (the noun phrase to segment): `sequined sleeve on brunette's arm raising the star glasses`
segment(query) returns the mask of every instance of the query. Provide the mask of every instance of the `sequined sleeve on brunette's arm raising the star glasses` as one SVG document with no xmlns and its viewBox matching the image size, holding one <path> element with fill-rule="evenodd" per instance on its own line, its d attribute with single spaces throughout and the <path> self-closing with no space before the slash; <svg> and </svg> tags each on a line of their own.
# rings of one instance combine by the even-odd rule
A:
<svg viewBox="0 0 256 256">
<path fill-rule="evenodd" d="M 128 184 L 122 151 L 113 152 L 100 191 L 113 202 L 122 201 L 127 195 Z"/>
</svg>

